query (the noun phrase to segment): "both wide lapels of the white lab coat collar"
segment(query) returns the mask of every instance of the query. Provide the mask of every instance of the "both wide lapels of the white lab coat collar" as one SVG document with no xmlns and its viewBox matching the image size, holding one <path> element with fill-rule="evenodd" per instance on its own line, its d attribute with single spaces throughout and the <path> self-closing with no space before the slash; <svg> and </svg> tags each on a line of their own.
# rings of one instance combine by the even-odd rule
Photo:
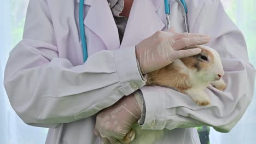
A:
<svg viewBox="0 0 256 144">
<path fill-rule="evenodd" d="M 79 3 L 80 0 L 77 2 Z M 161 2 L 155 0 L 133 1 L 121 46 L 118 28 L 107 0 L 85 0 L 84 4 L 91 7 L 84 19 L 84 25 L 102 39 L 108 50 L 137 45 L 141 40 L 150 37 L 164 27 L 164 23 L 156 14 Z"/>
</svg>

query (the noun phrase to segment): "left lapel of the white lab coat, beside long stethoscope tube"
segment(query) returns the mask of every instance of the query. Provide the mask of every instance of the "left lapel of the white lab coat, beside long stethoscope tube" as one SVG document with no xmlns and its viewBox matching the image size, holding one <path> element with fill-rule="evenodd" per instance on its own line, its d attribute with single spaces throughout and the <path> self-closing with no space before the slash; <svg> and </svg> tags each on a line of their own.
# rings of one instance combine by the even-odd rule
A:
<svg viewBox="0 0 256 144">
<path fill-rule="evenodd" d="M 84 19 L 84 25 L 101 38 L 108 50 L 120 47 L 118 28 L 107 0 L 85 0 L 91 7 Z M 86 33 L 86 31 L 85 31 Z"/>
</svg>

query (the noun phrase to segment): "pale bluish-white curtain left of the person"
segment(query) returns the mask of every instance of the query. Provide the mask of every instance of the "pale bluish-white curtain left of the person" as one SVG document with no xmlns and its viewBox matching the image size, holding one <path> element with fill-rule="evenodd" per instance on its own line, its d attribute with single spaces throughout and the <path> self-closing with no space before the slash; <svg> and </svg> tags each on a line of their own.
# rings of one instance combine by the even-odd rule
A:
<svg viewBox="0 0 256 144">
<path fill-rule="evenodd" d="M 3 74 L 10 50 L 22 37 L 27 1 L 0 0 L 0 143 L 41 144 L 48 129 L 26 125 L 11 108 L 3 87 Z"/>
</svg>

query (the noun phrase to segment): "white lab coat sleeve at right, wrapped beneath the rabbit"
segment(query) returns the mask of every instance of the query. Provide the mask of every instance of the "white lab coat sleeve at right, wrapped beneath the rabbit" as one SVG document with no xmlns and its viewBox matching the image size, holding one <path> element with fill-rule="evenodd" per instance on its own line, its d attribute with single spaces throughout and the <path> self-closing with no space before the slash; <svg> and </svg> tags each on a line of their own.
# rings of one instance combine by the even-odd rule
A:
<svg viewBox="0 0 256 144">
<path fill-rule="evenodd" d="M 216 49 L 220 54 L 227 88 L 224 92 L 212 86 L 206 88 L 211 105 L 200 106 L 188 95 L 170 88 L 142 87 L 146 103 L 146 119 L 142 129 L 210 125 L 217 131 L 226 133 L 240 120 L 250 104 L 255 69 L 248 62 L 242 33 L 226 15 L 219 0 L 205 2 L 191 33 L 211 35 L 207 46 Z"/>
</svg>

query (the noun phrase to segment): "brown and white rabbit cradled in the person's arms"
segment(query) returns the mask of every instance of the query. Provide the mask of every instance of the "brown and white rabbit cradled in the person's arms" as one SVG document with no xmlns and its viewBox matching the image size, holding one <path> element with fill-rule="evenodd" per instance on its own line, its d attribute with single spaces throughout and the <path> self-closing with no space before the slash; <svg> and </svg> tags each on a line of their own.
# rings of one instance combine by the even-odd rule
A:
<svg viewBox="0 0 256 144">
<path fill-rule="evenodd" d="M 226 85 L 222 79 L 224 70 L 218 52 L 207 46 L 199 47 L 198 55 L 177 59 L 164 68 L 148 73 L 146 86 L 175 88 L 189 95 L 197 104 L 208 105 L 210 99 L 203 91 L 212 85 L 223 91 Z M 193 48 L 193 47 L 189 47 Z M 133 125 L 132 135 L 136 135 L 132 144 L 153 144 L 164 134 L 163 130 L 142 130 L 138 124 Z"/>
</svg>

